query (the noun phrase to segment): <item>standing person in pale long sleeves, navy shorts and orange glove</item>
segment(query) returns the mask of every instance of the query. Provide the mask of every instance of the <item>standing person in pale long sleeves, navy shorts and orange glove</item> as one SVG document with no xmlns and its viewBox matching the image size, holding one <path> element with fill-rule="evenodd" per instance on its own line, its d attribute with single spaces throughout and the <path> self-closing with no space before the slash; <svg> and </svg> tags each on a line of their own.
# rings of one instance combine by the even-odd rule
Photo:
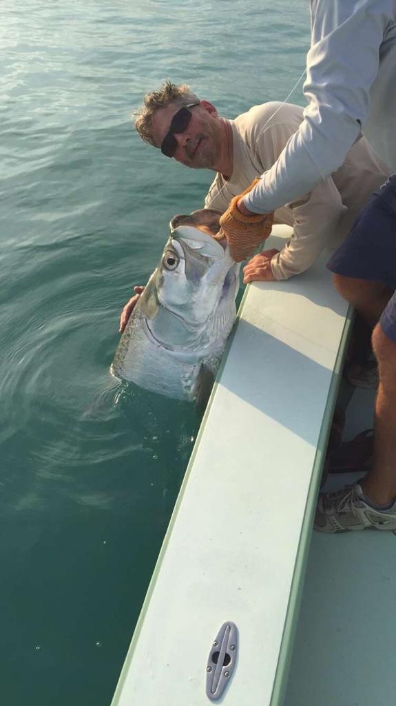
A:
<svg viewBox="0 0 396 706">
<path fill-rule="evenodd" d="M 314 189 L 363 131 L 396 171 L 396 2 L 311 0 L 311 49 L 304 121 L 259 184 L 236 198 L 223 233 L 246 233 L 249 218 Z M 240 226 L 243 216 L 243 228 Z M 249 238 L 249 247 L 252 237 Z M 247 247 L 247 250 L 249 248 Z M 378 361 L 374 462 L 354 486 L 319 498 L 316 529 L 396 529 L 396 175 L 373 197 L 328 264 L 335 287 L 368 323 Z"/>
</svg>

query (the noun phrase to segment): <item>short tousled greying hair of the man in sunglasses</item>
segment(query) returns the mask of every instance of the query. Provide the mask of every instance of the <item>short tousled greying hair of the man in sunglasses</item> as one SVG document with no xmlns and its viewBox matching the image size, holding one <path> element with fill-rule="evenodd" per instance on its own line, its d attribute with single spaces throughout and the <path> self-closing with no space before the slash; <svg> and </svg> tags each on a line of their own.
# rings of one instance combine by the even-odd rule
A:
<svg viewBox="0 0 396 706">
<path fill-rule="evenodd" d="M 189 103 L 199 102 L 199 98 L 190 91 L 190 86 L 185 83 L 176 85 L 171 81 L 166 81 L 159 90 L 153 90 L 144 96 L 144 104 L 139 111 L 135 113 L 135 128 L 140 134 L 144 142 L 148 142 L 154 147 L 158 147 L 154 142 L 151 131 L 151 122 L 154 112 L 159 108 L 166 108 L 170 103 L 174 103 L 178 107 L 188 105 Z"/>
</svg>

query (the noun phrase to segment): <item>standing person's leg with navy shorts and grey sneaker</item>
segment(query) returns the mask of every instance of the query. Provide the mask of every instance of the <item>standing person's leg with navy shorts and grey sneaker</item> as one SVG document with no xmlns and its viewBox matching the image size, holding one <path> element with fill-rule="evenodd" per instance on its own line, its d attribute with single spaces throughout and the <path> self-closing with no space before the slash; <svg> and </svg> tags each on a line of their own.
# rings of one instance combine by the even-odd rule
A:
<svg viewBox="0 0 396 706">
<path fill-rule="evenodd" d="M 319 496 L 315 527 L 396 531 L 396 175 L 371 198 L 328 268 L 338 292 L 373 327 L 379 384 L 373 468 L 357 484 Z"/>
</svg>

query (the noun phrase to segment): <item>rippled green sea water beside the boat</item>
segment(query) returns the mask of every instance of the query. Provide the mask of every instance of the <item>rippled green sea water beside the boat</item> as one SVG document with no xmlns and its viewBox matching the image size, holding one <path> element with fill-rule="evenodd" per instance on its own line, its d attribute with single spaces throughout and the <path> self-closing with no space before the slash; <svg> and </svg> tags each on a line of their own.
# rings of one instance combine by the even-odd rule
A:
<svg viewBox="0 0 396 706">
<path fill-rule="evenodd" d="M 130 112 L 166 78 L 283 100 L 309 6 L 2 0 L 0 40 L 1 704 L 106 706 L 199 427 L 111 377 L 118 316 L 211 181 Z"/>
</svg>

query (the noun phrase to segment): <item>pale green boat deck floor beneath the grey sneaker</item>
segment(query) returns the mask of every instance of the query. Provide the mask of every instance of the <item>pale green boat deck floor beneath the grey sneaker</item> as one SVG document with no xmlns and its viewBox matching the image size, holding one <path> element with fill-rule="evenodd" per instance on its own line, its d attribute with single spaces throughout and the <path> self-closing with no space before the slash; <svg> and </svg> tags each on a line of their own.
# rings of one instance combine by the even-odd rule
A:
<svg viewBox="0 0 396 706">
<path fill-rule="evenodd" d="M 345 440 L 373 426 L 373 393 L 355 390 Z M 326 489 L 357 474 L 329 476 Z M 284 706 L 395 701 L 396 537 L 314 532 Z"/>
</svg>

